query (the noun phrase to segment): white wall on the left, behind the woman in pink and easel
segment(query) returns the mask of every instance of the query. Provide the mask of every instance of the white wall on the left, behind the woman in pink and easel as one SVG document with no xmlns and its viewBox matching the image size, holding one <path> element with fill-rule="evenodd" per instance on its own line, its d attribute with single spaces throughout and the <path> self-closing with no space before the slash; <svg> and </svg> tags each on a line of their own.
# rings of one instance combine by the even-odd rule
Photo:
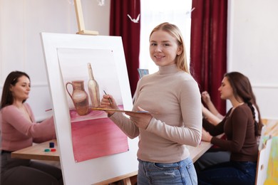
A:
<svg viewBox="0 0 278 185">
<path fill-rule="evenodd" d="M 86 30 L 109 35 L 110 1 L 82 0 Z M 52 107 L 39 33 L 78 32 L 73 0 L 0 0 L 0 90 L 6 75 L 22 70 L 30 75 L 28 102 L 36 120 L 43 120 Z M 1 93 L 0 93 L 1 95 Z"/>
</svg>

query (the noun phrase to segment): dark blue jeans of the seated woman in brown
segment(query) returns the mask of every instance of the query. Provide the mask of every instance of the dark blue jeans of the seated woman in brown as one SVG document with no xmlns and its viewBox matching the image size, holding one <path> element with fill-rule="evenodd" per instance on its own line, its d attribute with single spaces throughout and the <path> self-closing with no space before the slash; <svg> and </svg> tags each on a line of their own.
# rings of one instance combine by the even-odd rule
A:
<svg viewBox="0 0 278 185">
<path fill-rule="evenodd" d="M 198 173 L 198 184 L 254 185 L 256 170 L 257 162 L 224 162 Z"/>
</svg>

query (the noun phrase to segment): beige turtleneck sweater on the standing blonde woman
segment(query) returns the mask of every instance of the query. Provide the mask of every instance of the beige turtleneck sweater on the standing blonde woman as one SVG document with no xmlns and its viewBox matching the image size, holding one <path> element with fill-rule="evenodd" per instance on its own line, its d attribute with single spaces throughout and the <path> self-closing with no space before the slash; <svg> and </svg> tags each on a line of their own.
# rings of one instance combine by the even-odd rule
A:
<svg viewBox="0 0 278 185">
<path fill-rule="evenodd" d="M 120 112 L 110 119 L 130 138 L 139 136 L 138 159 L 173 163 L 190 157 L 186 145 L 197 146 L 201 139 L 202 109 L 197 83 L 176 65 L 159 68 L 138 82 L 135 107 L 153 114 L 147 129 L 136 127 Z"/>
</svg>

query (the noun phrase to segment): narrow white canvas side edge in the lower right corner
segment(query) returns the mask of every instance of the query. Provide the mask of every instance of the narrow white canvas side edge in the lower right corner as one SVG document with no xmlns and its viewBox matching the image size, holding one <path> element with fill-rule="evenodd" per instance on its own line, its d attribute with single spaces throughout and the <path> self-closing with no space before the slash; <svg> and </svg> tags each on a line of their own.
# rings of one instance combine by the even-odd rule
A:
<svg viewBox="0 0 278 185">
<path fill-rule="evenodd" d="M 263 185 L 267 179 L 267 166 L 269 162 L 269 155 L 272 145 L 272 136 L 262 144 L 262 149 L 259 150 L 258 161 L 257 161 L 257 174 L 256 174 L 256 185 Z"/>
</svg>

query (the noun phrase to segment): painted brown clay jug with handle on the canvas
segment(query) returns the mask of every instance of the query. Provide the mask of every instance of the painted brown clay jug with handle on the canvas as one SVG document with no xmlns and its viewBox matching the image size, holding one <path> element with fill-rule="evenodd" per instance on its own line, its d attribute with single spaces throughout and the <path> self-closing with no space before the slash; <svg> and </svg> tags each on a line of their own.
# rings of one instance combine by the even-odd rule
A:
<svg viewBox="0 0 278 185">
<path fill-rule="evenodd" d="M 68 85 L 73 86 L 72 94 L 68 91 Z M 83 80 L 74 80 L 72 82 L 66 83 L 66 91 L 68 95 L 73 100 L 73 105 L 76 108 L 78 115 L 87 115 L 88 110 L 88 94 L 84 90 L 84 81 Z"/>
</svg>

